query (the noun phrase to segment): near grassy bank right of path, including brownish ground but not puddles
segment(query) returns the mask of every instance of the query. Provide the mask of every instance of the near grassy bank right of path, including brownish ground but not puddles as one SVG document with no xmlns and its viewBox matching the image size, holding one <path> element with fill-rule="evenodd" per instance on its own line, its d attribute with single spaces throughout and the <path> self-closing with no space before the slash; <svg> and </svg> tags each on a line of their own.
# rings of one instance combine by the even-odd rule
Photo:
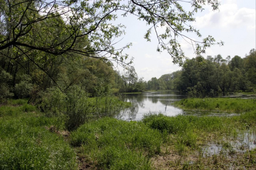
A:
<svg viewBox="0 0 256 170">
<path fill-rule="evenodd" d="M 238 160 L 236 166 L 253 169 L 256 149 L 240 153 L 231 141 L 247 132 L 247 126 L 255 132 L 255 122 L 255 111 L 229 118 L 163 114 L 145 116 L 140 122 L 104 118 L 72 132 L 71 144 L 83 158 L 82 166 L 92 169 L 218 169 L 219 165 L 225 169 L 232 161 L 229 156 L 244 160 L 248 155 L 249 160 Z M 216 164 L 209 164 L 213 156 L 202 151 L 212 142 L 225 147 L 215 155 Z"/>
</svg>

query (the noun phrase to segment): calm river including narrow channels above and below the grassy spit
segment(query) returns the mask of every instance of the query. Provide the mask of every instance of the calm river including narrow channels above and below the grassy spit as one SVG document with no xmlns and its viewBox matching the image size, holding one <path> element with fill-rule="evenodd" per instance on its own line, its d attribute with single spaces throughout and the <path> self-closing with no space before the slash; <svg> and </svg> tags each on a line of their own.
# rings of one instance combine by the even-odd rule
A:
<svg viewBox="0 0 256 170">
<path fill-rule="evenodd" d="M 202 94 L 206 96 L 207 94 Z M 255 96 L 248 95 L 235 95 L 230 94 L 228 96 L 222 96 L 222 93 L 218 94 L 218 97 L 232 97 L 232 98 L 255 98 Z M 179 91 L 154 91 L 144 92 L 140 94 L 122 94 L 121 100 L 125 102 L 131 102 L 132 107 L 125 109 L 121 112 L 117 118 L 123 120 L 141 120 L 143 115 L 149 113 L 162 113 L 167 116 L 175 116 L 177 114 L 186 115 L 208 115 L 208 116 L 232 116 L 235 113 L 218 111 L 218 110 L 184 110 L 172 105 L 173 102 L 187 98 L 186 93 L 180 93 Z"/>
</svg>

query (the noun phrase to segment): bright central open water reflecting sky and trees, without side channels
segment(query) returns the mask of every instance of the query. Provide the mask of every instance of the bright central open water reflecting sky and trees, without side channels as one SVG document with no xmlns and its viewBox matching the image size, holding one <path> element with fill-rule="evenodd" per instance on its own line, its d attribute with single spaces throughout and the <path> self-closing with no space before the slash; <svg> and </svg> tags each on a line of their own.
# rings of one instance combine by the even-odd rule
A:
<svg viewBox="0 0 256 170">
<path fill-rule="evenodd" d="M 156 91 L 141 94 L 126 94 L 121 100 L 131 102 L 132 107 L 124 110 L 119 117 L 121 119 L 140 120 L 144 114 L 164 113 L 167 116 L 183 114 L 183 110 L 171 105 L 172 102 L 186 98 L 184 93 L 178 91 Z"/>
</svg>

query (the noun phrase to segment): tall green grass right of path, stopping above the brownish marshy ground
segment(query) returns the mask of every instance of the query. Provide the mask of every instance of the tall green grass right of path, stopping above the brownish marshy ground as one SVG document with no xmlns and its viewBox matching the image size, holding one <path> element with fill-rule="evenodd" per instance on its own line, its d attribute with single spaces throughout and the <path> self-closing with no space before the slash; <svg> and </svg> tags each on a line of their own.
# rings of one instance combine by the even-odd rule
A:
<svg viewBox="0 0 256 170">
<path fill-rule="evenodd" d="M 180 155 L 200 150 L 203 143 L 234 135 L 246 123 L 252 125 L 255 117 L 256 111 L 231 117 L 148 114 L 139 122 L 106 117 L 73 131 L 71 145 L 80 147 L 98 169 L 149 169 L 150 158 L 164 154 L 166 145 Z"/>
</svg>

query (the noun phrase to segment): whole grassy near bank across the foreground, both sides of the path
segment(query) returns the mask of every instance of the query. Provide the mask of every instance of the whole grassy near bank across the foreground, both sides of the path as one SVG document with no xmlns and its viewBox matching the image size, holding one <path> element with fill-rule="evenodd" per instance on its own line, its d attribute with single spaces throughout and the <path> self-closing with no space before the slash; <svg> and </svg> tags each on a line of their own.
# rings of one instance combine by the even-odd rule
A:
<svg viewBox="0 0 256 170">
<path fill-rule="evenodd" d="M 9 113 L 0 115 L 0 169 L 256 169 L 256 109 L 251 101 L 221 99 L 213 100 L 224 109 L 242 102 L 244 113 L 148 114 L 130 122 L 104 117 L 72 132 L 54 129 L 56 117 L 14 100 L 0 107 Z"/>
</svg>

